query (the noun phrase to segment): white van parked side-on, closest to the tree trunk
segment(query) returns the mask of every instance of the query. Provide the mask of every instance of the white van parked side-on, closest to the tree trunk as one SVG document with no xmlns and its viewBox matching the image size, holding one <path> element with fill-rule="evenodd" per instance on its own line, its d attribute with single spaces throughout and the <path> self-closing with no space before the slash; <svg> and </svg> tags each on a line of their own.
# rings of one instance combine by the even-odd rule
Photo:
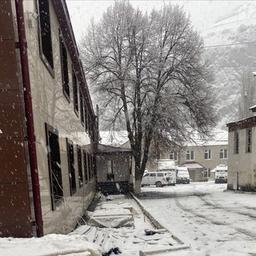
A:
<svg viewBox="0 0 256 256">
<path fill-rule="evenodd" d="M 176 184 L 175 169 L 159 170 L 157 172 L 146 172 L 142 177 L 141 186 L 156 185 L 162 187 Z"/>
</svg>

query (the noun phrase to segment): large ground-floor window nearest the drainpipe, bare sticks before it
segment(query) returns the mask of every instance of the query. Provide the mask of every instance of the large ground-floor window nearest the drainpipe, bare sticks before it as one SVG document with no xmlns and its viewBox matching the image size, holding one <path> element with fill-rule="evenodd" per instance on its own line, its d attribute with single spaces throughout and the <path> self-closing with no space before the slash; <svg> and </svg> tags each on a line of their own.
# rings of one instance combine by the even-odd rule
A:
<svg viewBox="0 0 256 256">
<path fill-rule="evenodd" d="M 52 210 L 62 202 L 63 186 L 58 132 L 45 125 Z"/>
</svg>

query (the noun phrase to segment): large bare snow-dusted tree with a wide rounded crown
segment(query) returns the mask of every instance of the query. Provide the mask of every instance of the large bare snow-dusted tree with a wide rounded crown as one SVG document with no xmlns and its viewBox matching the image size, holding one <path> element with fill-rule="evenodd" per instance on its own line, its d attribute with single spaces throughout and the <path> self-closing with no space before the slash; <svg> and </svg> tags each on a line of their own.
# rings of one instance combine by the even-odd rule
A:
<svg viewBox="0 0 256 256">
<path fill-rule="evenodd" d="M 111 121 L 125 121 L 138 192 L 153 139 L 180 143 L 214 124 L 202 39 L 178 6 L 148 15 L 117 1 L 92 24 L 81 51 Z"/>
</svg>

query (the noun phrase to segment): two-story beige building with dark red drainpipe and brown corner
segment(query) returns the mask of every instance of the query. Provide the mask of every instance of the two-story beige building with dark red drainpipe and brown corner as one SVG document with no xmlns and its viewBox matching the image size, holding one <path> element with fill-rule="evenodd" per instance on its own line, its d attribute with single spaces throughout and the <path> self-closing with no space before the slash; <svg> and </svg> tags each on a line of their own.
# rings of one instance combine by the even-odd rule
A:
<svg viewBox="0 0 256 256">
<path fill-rule="evenodd" d="M 94 196 L 97 118 L 65 1 L 0 1 L 0 60 L 0 235 L 68 232 Z"/>
</svg>

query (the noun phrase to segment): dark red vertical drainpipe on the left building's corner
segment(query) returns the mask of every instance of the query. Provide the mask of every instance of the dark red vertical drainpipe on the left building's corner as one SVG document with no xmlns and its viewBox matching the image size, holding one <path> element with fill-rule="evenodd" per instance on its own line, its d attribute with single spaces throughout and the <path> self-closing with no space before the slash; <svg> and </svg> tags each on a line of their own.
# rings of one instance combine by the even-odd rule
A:
<svg viewBox="0 0 256 256">
<path fill-rule="evenodd" d="M 35 221 L 36 221 L 36 234 L 38 237 L 40 237 L 40 236 L 43 236 L 43 218 L 42 218 L 40 185 L 39 185 L 38 168 L 37 168 L 37 155 L 36 155 L 36 144 L 35 144 L 31 87 L 30 87 L 30 78 L 29 78 L 29 65 L 28 65 L 23 0 L 15 0 L 15 7 L 16 7 L 16 15 L 17 15 L 18 37 L 19 37 L 18 45 L 20 49 L 20 62 L 21 62 L 23 88 L 24 88 L 24 103 L 25 103 L 29 161 L 30 161 L 30 169 L 31 169 L 33 201 L 34 201 L 34 211 L 35 211 Z"/>
</svg>

